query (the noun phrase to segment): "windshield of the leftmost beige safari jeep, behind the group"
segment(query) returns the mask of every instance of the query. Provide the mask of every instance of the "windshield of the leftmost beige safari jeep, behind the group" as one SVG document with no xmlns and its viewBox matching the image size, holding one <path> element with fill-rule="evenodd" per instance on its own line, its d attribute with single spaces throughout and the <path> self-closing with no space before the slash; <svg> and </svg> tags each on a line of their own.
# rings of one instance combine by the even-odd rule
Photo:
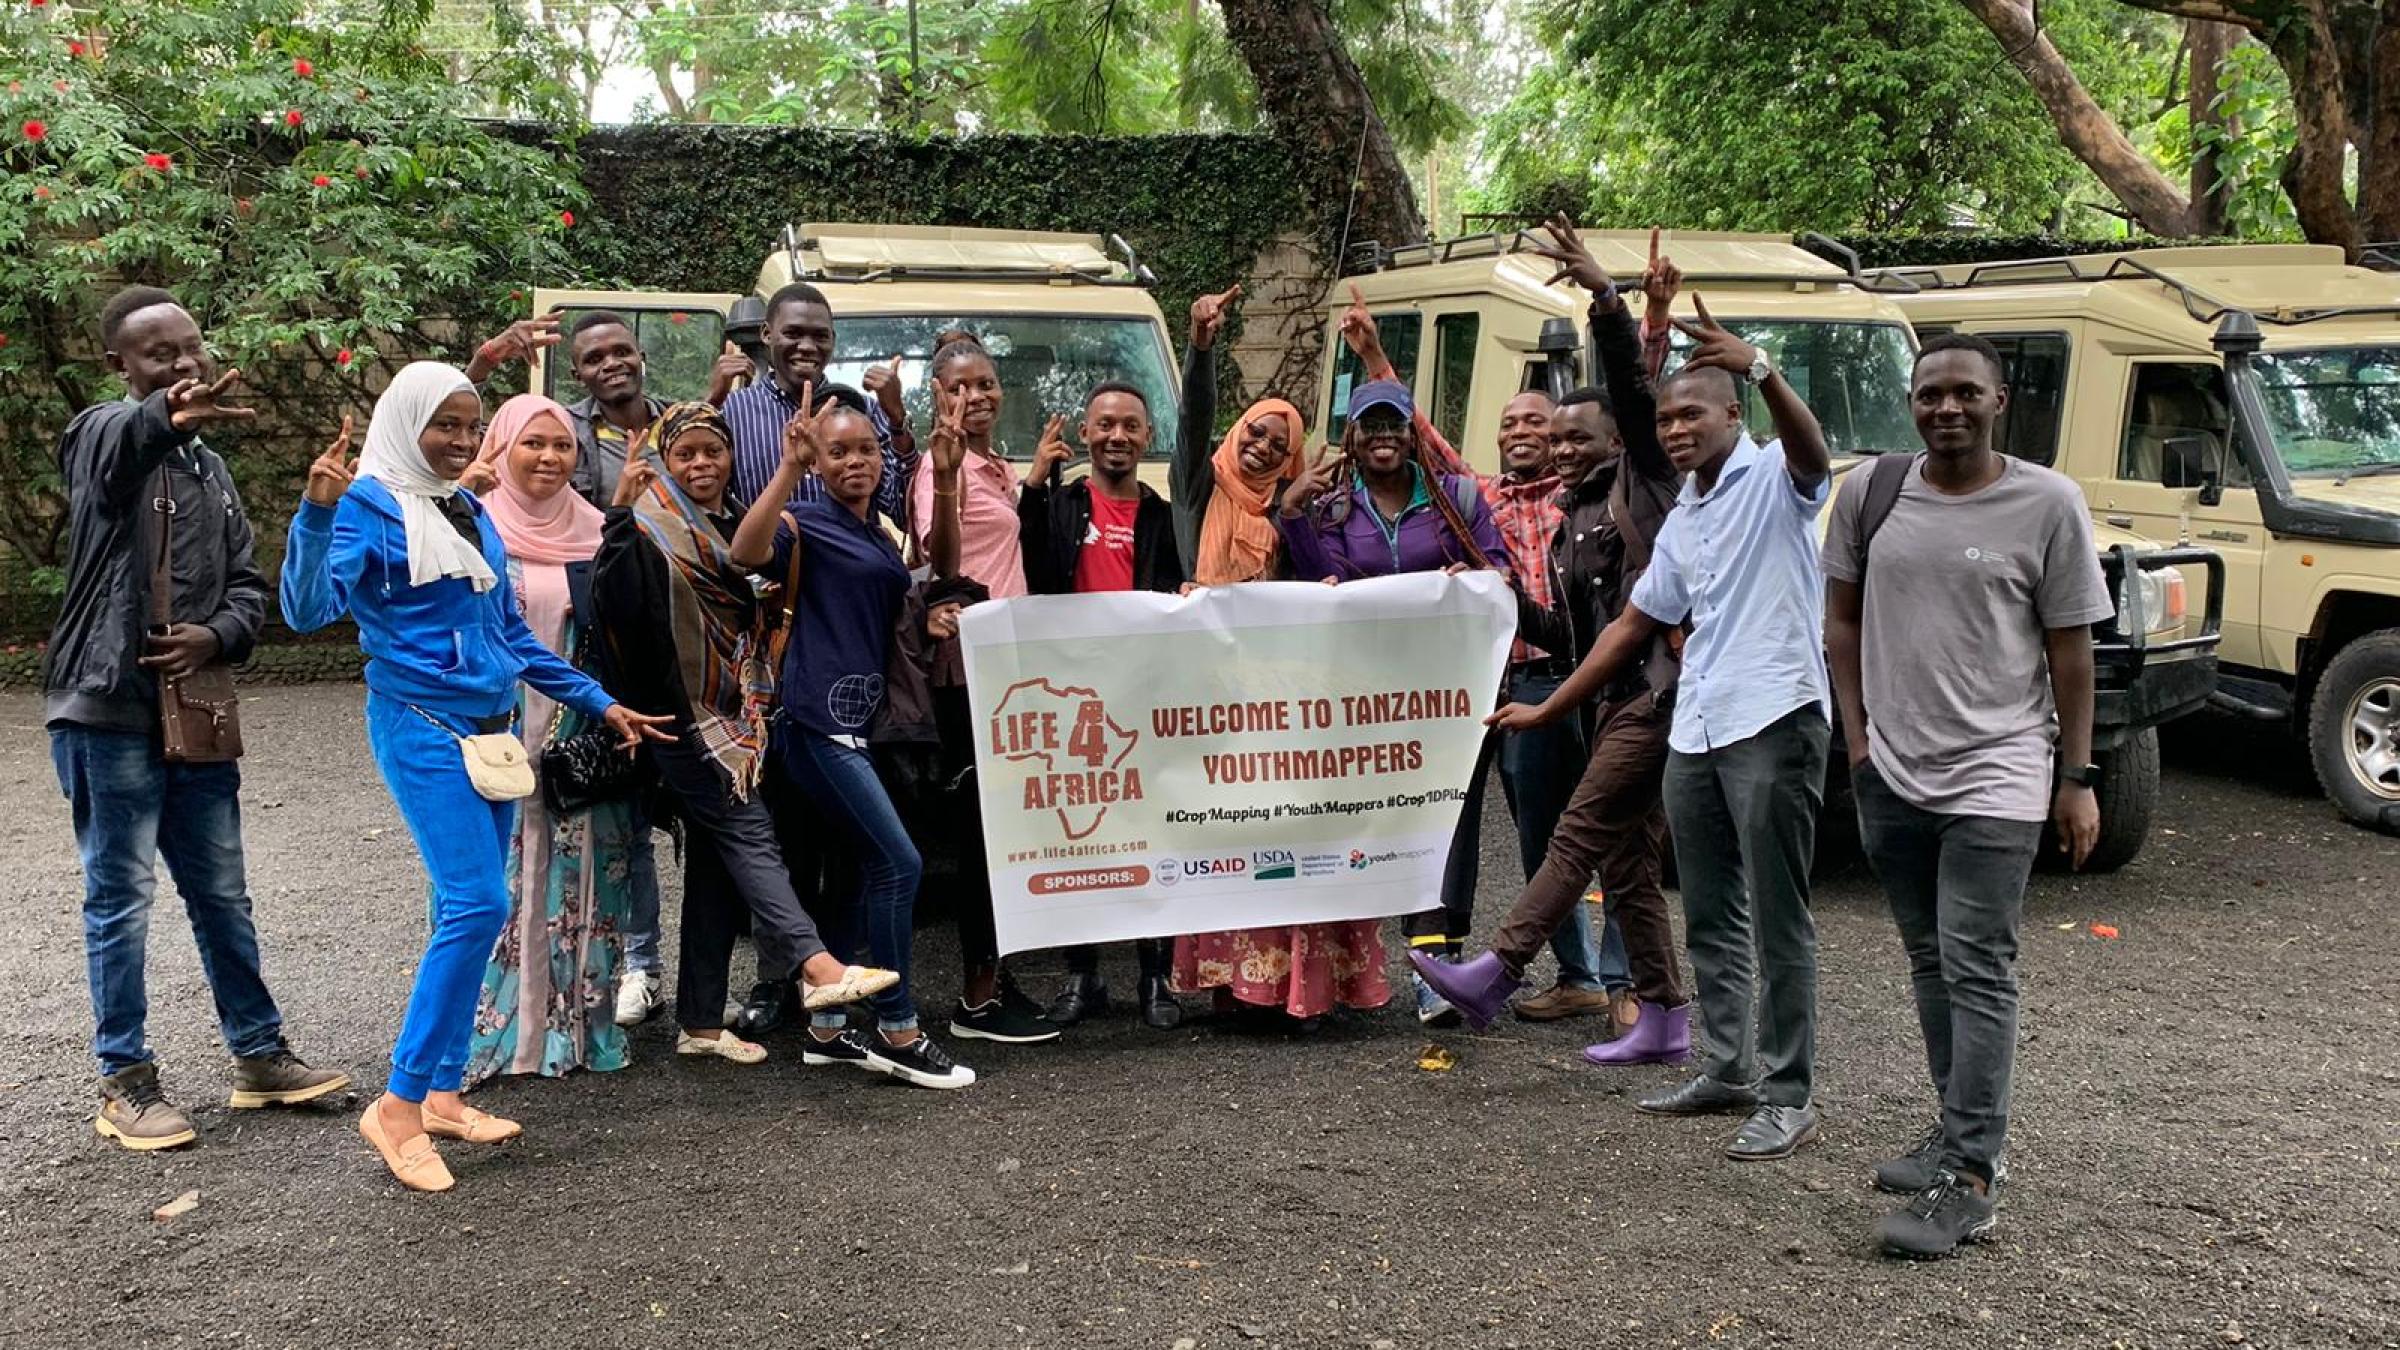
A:
<svg viewBox="0 0 2400 1350">
<path fill-rule="evenodd" d="M 926 370 L 934 363 L 934 336 L 943 329 L 967 329 L 984 341 L 1001 372 L 1001 425 L 991 444 L 1008 459 L 1032 459 L 1042 428 L 1054 413 L 1068 420 L 1073 442 L 1082 401 L 1092 384 L 1123 380 L 1150 401 L 1150 459 L 1176 452 L 1178 387 L 1169 368 L 1166 344 L 1154 319 L 1094 315 L 852 315 L 842 312 L 833 329 L 833 360 L 826 372 L 859 387 L 866 368 L 900 358 L 900 392 L 917 440 L 934 425 L 934 392 Z"/>
</svg>

